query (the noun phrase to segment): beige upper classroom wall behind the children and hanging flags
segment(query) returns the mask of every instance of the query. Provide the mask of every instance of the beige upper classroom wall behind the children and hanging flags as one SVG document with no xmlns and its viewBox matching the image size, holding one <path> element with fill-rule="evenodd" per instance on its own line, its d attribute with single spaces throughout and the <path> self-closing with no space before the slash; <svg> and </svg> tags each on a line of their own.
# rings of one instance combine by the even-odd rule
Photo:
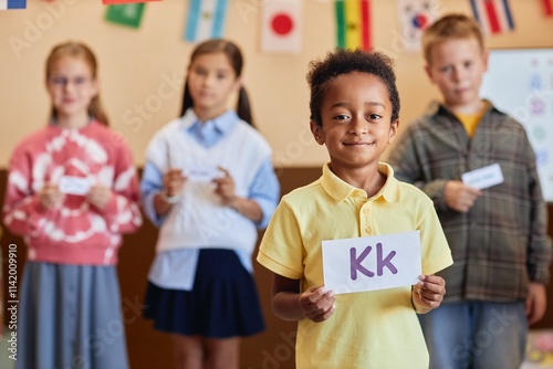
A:
<svg viewBox="0 0 553 369">
<path fill-rule="evenodd" d="M 327 159 L 309 131 L 307 63 L 335 46 L 334 2 L 304 0 L 299 54 L 260 51 L 262 0 L 229 0 L 225 36 L 240 44 L 246 86 L 261 133 L 281 167 L 320 166 Z M 517 29 L 488 39 L 490 48 L 551 48 L 553 18 L 539 0 L 511 0 Z M 468 0 L 438 1 L 441 13 L 470 12 Z M 48 120 L 44 61 L 66 40 L 97 54 L 102 98 L 114 129 L 128 140 L 137 165 L 152 135 L 180 110 L 184 72 L 192 44 L 182 40 L 187 0 L 148 3 L 138 30 L 104 21 L 101 0 L 28 0 L 27 10 L 0 11 L 0 168 L 14 145 Z M 401 124 L 437 96 L 419 52 L 407 52 L 397 2 L 372 0 L 374 46 L 396 60 Z M 160 97 L 163 96 L 163 98 Z M 401 129 L 401 127 L 400 127 Z"/>
</svg>

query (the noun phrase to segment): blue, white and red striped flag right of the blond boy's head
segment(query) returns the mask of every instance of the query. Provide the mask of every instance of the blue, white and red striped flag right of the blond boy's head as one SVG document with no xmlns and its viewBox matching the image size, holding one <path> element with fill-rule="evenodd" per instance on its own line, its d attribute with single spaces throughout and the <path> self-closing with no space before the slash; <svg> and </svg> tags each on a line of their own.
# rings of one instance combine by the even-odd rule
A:
<svg viewBox="0 0 553 369">
<path fill-rule="evenodd" d="M 499 34 L 514 29 L 509 0 L 470 0 L 470 6 L 484 34 Z"/>
</svg>

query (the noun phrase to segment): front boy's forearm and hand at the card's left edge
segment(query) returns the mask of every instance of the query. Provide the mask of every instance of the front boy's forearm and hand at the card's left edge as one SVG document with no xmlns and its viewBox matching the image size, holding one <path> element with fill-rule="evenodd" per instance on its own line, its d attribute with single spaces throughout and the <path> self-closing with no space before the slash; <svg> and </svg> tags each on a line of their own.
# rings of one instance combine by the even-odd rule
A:
<svg viewBox="0 0 553 369">
<path fill-rule="evenodd" d="M 309 318 L 315 323 L 328 319 L 334 313 L 334 291 L 324 286 L 311 287 L 300 294 L 300 280 L 274 274 L 273 312 L 284 320 Z"/>
</svg>

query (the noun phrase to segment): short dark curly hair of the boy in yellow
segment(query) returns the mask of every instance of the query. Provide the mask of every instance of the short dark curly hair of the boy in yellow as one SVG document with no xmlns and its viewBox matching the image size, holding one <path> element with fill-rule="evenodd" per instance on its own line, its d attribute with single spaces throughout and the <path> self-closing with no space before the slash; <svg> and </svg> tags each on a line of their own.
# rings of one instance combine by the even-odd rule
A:
<svg viewBox="0 0 553 369">
<path fill-rule="evenodd" d="M 324 60 L 314 60 L 309 66 L 307 83 L 311 88 L 310 119 L 317 126 L 323 124 L 321 108 L 328 82 L 352 72 L 371 73 L 378 77 L 388 89 L 392 103 L 392 122 L 399 117 L 399 93 L 396 86 L 394 61 L 376 51 L 343 50 L 328 52 Z"/>
</svg>

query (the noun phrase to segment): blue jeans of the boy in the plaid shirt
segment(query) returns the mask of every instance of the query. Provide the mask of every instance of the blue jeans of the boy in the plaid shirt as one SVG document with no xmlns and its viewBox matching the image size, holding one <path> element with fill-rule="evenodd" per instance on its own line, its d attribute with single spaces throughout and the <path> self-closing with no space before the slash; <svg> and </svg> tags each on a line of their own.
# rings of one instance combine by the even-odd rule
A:
<svg viewBox="0 0 553 369">
<path fill-rule="evenodd" d="M 524 359 L 524 302 L 447 304 L 419 320 L 430 369 L 517 369 Z"/>
</svg>

